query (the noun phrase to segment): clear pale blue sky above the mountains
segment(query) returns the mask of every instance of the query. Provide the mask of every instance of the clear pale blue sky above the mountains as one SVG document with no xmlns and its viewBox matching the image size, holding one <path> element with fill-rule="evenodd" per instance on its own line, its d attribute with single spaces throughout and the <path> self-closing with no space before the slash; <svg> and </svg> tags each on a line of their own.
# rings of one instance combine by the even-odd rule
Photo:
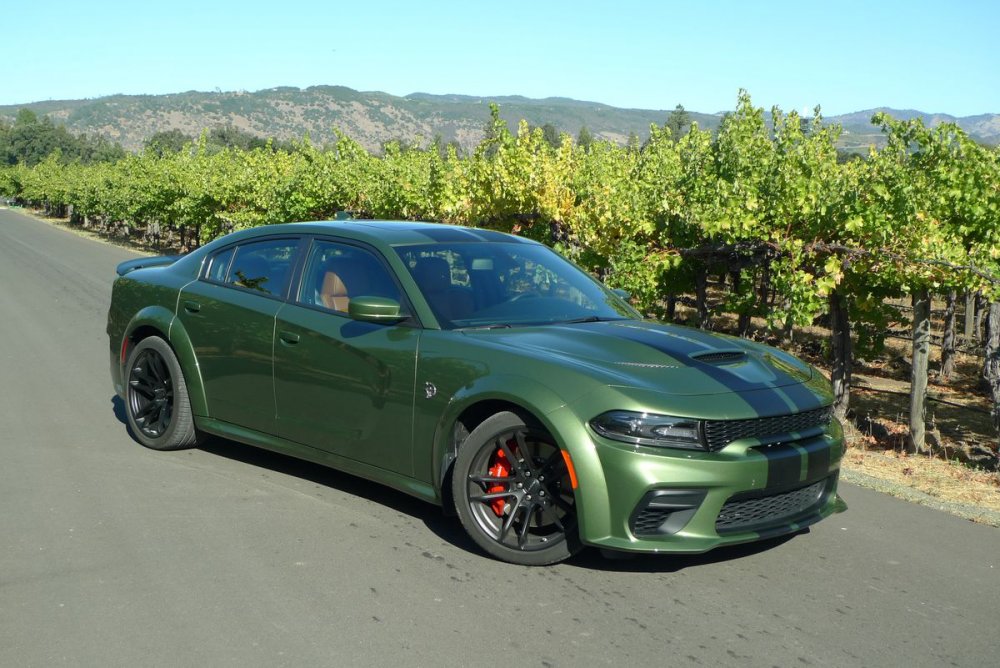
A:
<svg viewBox="0 0 1000 668">
<path fill-rule="evenodd" d="M 1000 113 L 1000 0 L 34 0 L 0 16 L 0 104 L 329 84 Z"/>
</svg>

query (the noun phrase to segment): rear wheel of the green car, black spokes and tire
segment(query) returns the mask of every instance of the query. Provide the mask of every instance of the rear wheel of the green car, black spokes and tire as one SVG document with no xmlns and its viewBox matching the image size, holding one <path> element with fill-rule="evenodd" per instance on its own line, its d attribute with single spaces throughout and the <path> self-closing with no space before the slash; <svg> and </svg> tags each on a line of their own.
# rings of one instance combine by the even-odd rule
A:
<svg viewBox="0 0 1000 668">
<path fill-rule="evenodd" d="M 143 339 L 128 356 L 125 414 L 132 436 L 147 448 L 179 450 L 198 444 L 181 365 L 158 336 Z"/>
</svg>

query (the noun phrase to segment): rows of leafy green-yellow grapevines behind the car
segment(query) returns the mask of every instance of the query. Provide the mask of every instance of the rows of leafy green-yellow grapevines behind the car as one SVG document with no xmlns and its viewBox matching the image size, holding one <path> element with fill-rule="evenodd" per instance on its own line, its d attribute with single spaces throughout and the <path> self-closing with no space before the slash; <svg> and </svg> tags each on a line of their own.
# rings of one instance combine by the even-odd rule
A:
<svg viewBox="0 0 1000 668">
<path fill-rule="evenodd" d="M 983 393 L 1000 427 L 1000 150 L 954 125 L 880 114 L 884 148 L 840 162 L 840 129 L 818 108 L 765 118 L 741 92 L 715 134 L 694 125 L 675 136 L 665 125 L 642 145 L 563 135 L 553 146 L 525 122 L 510 132 L 493 107 L 468 156 L 399 142 L 376 156 L 339 134 L 332 146 L 303 140 L 293 150 L 210 150 L 203 137 L 113 163 L 52 154 L 0 168 L 0 194 L 164 248 L 342 212 L 525 235 L 627 290 L 651 316 L 811 336 L 842 417 L 857 356 L 906 337 L 912 452 L 939 447 L 926 436 L 932 347 L 939 380 L 956 374 L 961 350 L 963 373 L 975 377 L 968 392 Z M 995 437 L 992 448 L 979 463 L 995 468 Z"/>
</svg>

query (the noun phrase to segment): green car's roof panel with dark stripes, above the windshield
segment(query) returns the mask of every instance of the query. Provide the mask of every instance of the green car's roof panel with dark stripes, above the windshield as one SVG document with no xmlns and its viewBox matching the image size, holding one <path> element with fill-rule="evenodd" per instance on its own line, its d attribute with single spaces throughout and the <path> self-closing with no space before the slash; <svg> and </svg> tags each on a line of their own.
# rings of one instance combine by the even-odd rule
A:
<svg viewBox="0 0 1000 668">
<path fill-rule="evenodd" d="M 463 242 L 536 242 L 511 234 L 443 223 L 417 223 L 407 220 L 324 220 L 307 223 L 287 223 L 254 228 L 248 236 L 273 234 L 336 234 L 361 241 L 389 246 L 409 246 L 432 243 Z"/>
</svg>

